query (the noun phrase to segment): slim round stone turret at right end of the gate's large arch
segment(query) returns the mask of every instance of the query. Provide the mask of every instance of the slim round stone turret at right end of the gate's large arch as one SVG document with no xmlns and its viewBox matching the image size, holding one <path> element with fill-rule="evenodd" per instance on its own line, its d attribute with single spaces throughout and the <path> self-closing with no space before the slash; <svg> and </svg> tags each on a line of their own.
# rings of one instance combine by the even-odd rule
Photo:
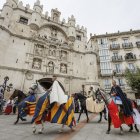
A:
<svg viewBox="0 0 140 140">
<path fill-rule="evenodd" d="M 69 19 L 68 19 L 68 37 L 69 40 L 74 42 L 76 39 L 76 29 L 75 29 L 75 18 L 72 15 Z"/>
</svg>

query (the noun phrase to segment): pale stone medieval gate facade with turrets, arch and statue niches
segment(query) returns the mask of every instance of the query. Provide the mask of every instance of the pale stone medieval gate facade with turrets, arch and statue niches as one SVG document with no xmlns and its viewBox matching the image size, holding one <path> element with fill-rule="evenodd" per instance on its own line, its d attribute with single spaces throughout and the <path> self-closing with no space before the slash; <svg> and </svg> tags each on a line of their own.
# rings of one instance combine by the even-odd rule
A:
<svg viewBox="0 0 140 140">
<path fill-rule="evenodd" d="M 97 54 L 87 47 L 87 29 L 72 15 L 43 12 L 37 0 L 33 9 L 18 0 L 7 0 L 0 10 L 0 84 L 5 76 L 14 88 L 28 91 L 44 77 L 58 76 L 67 94 L 85 85 L 97 88 Z"/>
</svg>

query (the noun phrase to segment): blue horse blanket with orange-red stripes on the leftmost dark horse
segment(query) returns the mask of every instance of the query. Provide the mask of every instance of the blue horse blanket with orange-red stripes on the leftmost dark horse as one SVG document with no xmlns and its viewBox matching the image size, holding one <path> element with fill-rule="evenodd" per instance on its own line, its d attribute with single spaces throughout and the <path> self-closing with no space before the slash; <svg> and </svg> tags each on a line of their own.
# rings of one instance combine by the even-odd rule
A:
<svg viewBox="0 0 140 140">
<path fill-rule="evenodd" d="M 25 117 L 25 116 L 27 116 L 28 115 L 28 107 L 29 107 L 29 105 L 33 105 L 34 106 L 34 108 L 35 108 L 35 104 L 36 104 L 36 97 L 35 97 L 35 95 L 29 95 L 28 97 L 26 97 L 22 102 L 20 102 L 19 104 L 18 104 L 18 113 L 19 113 L 19 117 Z M 31 107 L 33 107 L 33 106 L 31 106 Z M 30 108 L 31 108 L 30 107 Z M 33 108 L 33 109 L 34 109 Z M 32 113 L 31 113 L 31 111 L 30 111 L 30 115 L 33 115 L 34 114 L 34 111 L 32 110 Z"/>
</svg>

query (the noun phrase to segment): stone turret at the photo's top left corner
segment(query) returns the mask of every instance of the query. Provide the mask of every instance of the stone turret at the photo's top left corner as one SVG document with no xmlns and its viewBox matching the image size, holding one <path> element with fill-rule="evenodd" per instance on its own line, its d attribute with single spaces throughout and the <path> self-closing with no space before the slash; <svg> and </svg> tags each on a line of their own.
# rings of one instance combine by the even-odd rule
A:
<svg viewBox="0 0 140 140">
<path fill-rule="evenodd" d="M 7 0 L 4 4 L 1 12 L 1 17 L 4 18 L 3 24 L 7 26 L 13 15 L 13 8 L 17 7 L 18 0 Z"/>
</svg>

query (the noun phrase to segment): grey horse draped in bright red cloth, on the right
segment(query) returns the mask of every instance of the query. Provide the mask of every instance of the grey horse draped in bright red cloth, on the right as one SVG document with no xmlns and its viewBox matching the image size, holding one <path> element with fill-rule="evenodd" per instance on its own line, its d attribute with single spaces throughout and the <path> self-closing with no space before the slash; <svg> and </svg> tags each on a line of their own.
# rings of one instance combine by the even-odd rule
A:
<svg viewBox="0 0 140 140">
<path fill-rule="evenodd" d="M 108 129 L 106 131 L 106 134 L 110 134 L 110 130 L 111 130 L 111 122 L 113 121 L 116 121 L 117 120 L 117 123 L 114 124 L 114 127 L 115 125 L 117 126 L 116 128 L 119 128 L 120 127 L 120 134 L 123 134 L 123 128 L 122 128 L 122 116 L 120 117 L 119 115 L 117 115 L 117 113 L 119 113 L 119 110 L 118 110 L 118 107 L 117 105 L 114 103 L 113 99 L 111 98 L 111 95 L 108 94 L 108 93 L 104 93 L 103 91 L 99 90 L 98 89 L 98 93 L 101 95 L 102 99 L 104 100 L 107 108 L 108 108 Z M 112 105 L 115 107 L 112 107 Z M 117 110 L 117 112 L 115 111 Z M 112 114 L 112 117 L 111 117 L 111 114 Z M 123 115 L 124 116 L 124 115 Z M 113 117 L 114 119 L 116 120 L 113 120 Z M 125 119 L 129 119 L 129 124 L 127 124 L 129 127 L 130 127 L 130 130 L 131 131 L 133 129 L 133 118 L 132 116 L 130 117 L 125 117 Z M 124 121 L 124 120 L 123 120 Z M 115 123 L 115 122 L 113 122 Z M 124 121 L 124 123 L 126 123 Z M 136 128 L 136 131 L 138 130 L 137 126 L 135 125 L 135 128 Z M 137 131 L 138 132 L 138 131 Z"/>
</svg>

